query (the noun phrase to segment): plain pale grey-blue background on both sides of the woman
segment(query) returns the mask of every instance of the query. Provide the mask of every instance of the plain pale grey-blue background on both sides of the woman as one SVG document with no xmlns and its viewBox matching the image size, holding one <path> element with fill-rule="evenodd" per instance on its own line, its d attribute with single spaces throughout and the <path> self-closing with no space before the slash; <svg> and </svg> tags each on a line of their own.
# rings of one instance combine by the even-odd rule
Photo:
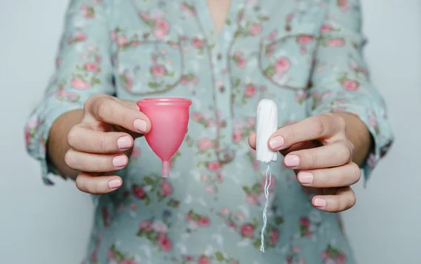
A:
<svg viewBox="0 0 421 264">
<path fill-rule="evenodd" d="M 389 104 L 392 151 L 345 213 L 360 264 L 421 263 L 421 1 L 361 0 L 366 57 Z M 53 72 L 67 0 L 0 0 L 0 262 L 78 264 L 93 206 L 71 181 L 43 186 L 23 125 Z M 418 252 L 417 252 L 418 251 Z M 311 264 L 311 261 L 308 261 Z"/>
</svg>

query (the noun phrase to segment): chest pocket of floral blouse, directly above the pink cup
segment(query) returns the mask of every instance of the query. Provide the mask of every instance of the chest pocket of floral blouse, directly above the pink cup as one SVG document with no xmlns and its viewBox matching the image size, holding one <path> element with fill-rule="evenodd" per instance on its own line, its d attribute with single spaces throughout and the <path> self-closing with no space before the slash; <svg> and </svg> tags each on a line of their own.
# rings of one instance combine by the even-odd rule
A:
<svg viewBox="0 0 421 264">
<path fill-rule="evenodd" d="M 126 43 L 119 43 L 119 38 Z M 116 85 L 129 95 L 180 95 L 177 88 L 183 76 L 183 65 L 178 36 L 149 40 L 135 31 L 117 36 Z"/>
</svg>

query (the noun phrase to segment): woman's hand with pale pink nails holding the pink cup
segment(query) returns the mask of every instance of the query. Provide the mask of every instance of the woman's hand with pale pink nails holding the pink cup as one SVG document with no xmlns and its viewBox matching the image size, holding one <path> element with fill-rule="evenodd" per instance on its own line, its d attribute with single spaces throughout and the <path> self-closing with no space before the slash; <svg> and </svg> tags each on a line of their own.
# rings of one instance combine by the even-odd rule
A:
<svg viewBox="0 0 421 264">
<path fill-rule="evenodd" d="M 149 118 L 133 101 L 109 95 L 86 100 L 81 123 L 67 134 L 65 163 L 79 172 L 77 188 L 93 194 L 119 188 L 122 180 L 113 172 L 126 167 L 134 139 L 150 129 Z"/>
</svg>

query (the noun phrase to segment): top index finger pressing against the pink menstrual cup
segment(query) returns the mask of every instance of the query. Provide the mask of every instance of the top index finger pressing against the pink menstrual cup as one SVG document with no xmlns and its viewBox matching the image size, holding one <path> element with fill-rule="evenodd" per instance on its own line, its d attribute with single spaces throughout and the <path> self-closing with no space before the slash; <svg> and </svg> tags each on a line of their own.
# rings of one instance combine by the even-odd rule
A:
<svg viewBox="0 0 421 264">
<path fill-rule="evenodd" d="M 95 120 L 104 123 L 119 125 L 137 133 L 145 134 L 151 129 L 151 122 L 147 116 L 112 97 L 99 97 L 88 102 L 88 112 Z"/>
</svg>

